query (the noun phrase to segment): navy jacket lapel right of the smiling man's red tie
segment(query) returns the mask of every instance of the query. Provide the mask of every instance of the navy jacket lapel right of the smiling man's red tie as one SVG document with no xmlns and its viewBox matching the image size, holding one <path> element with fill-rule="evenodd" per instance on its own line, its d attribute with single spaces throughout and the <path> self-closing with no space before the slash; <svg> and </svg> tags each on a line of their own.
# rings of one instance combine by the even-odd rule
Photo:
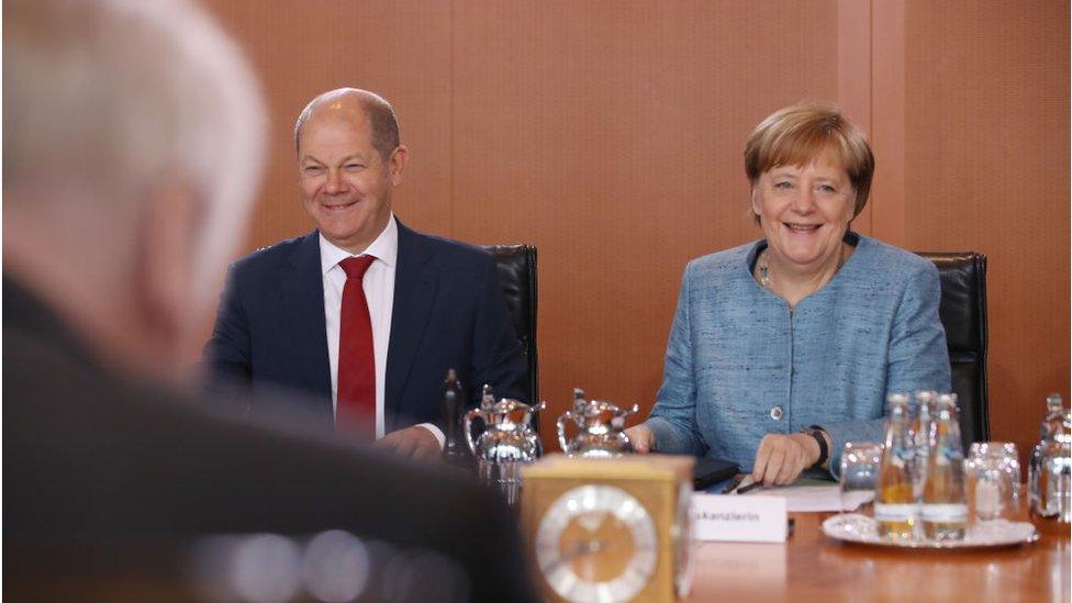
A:
<svg viewBox="0 0 1072 603">
<path fill-rule="evenodd" d="M 438 276 L 431 269 L 432 252 L 422 236 L 399 224 L 399 260 L 394 272 L 394 309 L 387 356 L 384 406 L 388 431 L 398 416 L 406 380 L 416 358 L 435 302 Z"/>
</svg>

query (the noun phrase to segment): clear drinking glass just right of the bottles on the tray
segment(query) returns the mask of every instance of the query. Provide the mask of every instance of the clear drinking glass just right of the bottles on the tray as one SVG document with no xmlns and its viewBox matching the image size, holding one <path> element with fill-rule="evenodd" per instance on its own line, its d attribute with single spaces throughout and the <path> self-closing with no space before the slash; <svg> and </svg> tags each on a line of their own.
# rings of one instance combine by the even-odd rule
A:
<svg viewBox="0 0 1072 603">
<path fill-rule="evenodd" d="M 968 521 L 1015 521 L 1020 505 L 1020 462 L 1012 442 L 976 442 L 964 460 Z"/>
</svg>

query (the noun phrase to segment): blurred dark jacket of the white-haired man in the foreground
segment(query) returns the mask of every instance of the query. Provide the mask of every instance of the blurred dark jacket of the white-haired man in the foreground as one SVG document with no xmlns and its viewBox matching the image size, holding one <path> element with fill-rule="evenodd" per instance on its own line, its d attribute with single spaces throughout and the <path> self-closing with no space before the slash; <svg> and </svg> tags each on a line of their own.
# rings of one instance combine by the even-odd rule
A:
<svg viewBox="0 0 1072 603">
<path fill-rule="evenodd" d="M 471 478 L 310 437 L 300 420 L 283 428 L 194 406 L 109 370 L 11 282 L 3 298 L 5 591 L 45 583 L 26 568 L 55 578 L 94 562 L 34 565 L 26 551 L 42 543 L 342 528 L 449 556 L 476 599 L 531 600 L 516 526 Z"/>
</svg>

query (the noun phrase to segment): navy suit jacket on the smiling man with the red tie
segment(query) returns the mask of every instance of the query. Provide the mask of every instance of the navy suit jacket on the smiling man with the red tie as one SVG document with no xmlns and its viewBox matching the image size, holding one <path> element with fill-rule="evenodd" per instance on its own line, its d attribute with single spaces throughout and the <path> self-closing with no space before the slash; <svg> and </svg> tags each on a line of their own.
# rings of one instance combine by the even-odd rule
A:
<svg viewBox="0 0 1072 603">
<path fill-rule="evenodd" d="M 483 383 L 500 397 L 525 400 L 524 351 L 494 258 L 478 247 L 398 226 L 387 431 L 416 423 L 443 427 L 437 390 L 450 368 L 471 402 Z M 316 231 L 231 267 L 204 359 L 217 380 L 304 392 L 314 412 L 333 420 Z"/>
</svg>

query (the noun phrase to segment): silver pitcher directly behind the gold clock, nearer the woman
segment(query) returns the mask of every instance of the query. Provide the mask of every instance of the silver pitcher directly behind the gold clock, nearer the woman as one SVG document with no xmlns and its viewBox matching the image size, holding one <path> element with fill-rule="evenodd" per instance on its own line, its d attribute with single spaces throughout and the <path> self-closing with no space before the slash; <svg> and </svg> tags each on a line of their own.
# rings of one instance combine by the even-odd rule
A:
<svg viewBox="0 0 1072 603">
<path fill-rule="evenodd" d="M 585 400 L 584 391 L 573 390 L 573 407 L 558 417 L 558 445 L 573 458 L 617 458 L 633 451 L 625 434 L 625 417 L 640 407 L 621 409 L 605 400 Z M 577 434 L 567 437 L 566 426 L 577 425 Z"/>
</svg>

